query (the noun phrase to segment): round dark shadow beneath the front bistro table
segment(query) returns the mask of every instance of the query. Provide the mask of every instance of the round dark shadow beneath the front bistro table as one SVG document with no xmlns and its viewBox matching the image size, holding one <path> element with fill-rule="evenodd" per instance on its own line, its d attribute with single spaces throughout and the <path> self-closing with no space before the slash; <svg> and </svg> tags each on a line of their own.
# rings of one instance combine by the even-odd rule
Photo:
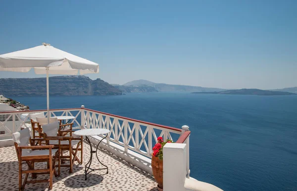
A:
<svg viewBox="0 0 297 191">
<path fill-rule="evenodd" d="M 64 181 L 64 185 L 69 188 L 88 188 L 100 184 L 103 177 L 97 174 L 88 174 L 85 181 L 85 174 L 74 175 Z"/>
</svg>

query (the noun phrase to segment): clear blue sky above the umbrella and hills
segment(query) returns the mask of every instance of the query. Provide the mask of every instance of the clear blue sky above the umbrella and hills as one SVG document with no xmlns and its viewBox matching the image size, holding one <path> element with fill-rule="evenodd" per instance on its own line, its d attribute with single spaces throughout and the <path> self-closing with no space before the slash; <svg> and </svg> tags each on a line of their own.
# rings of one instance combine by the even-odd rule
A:
<svg viewBox="0 0 297 191">
<path fill-rule="evenodd" d="M 109 83 L 297 86 L 297 0 L 1 1 L 0 55 L 43 42 L 98 63 L 88 76 Z"/>
</svg>

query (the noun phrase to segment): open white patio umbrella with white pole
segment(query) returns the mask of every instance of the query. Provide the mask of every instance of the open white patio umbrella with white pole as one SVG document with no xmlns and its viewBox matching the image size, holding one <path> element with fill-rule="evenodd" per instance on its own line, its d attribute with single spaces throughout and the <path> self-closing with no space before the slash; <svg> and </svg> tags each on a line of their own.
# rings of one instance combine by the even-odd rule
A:
<svg viewBox="0 0 297 191">
<path fill-rule="evenodd" d="M 49 122 L 49 74 L 99 73 L 99 64 L 77 57 L 43 43 L 41 46 L 0 55 L 0 71 L 47 74 L 47 109 Z"/>
</svg>

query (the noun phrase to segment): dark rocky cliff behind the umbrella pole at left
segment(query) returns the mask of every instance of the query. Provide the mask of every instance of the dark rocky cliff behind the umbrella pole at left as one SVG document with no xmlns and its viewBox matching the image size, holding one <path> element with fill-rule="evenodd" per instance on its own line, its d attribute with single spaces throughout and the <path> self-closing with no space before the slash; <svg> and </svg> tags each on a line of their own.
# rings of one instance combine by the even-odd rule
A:
<svg viewBox="0 0 297 191">
<path fill-rule="evenodd" d="M 0 78 L 0 94 L 5 96 L 45 96 L 46 78 Z M 49 77 L 49 95 L 122 95 L 122 91 L 83 75 Z"/>
</svg>

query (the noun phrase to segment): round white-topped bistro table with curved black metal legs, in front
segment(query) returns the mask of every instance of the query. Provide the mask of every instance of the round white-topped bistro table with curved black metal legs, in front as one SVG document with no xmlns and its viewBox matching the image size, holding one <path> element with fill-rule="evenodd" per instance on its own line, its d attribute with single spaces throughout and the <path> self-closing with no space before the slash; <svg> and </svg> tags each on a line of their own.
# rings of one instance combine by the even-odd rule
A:
<svg viewBox="0 0 297 191">
<path fill-rule="evenodd" d="M 89 162 L 88 162 L 88 163 L 86 164 L 86 166 L 85 166 L 85 180 L 87 180 L 87 175 L 90 174 L 92 171 L 97 171 L 97 170 L 104 170 L 104 169 L 107 169 L 106 174 L 108 174 L 108 167 L 107 167 L 106 165 L 103 165 L 103 164 L 100 162 L 99 157 L 98 157 L 98 154 L 97 154 L 97 151 L 98 151 L 98 147 L 99 147 L 100 142 L 101 142 L 104 138 L 107 137 L 107 135 L 108 135 L 109 132 L 110 132 L 110 130 L 108 130 L 108 129 L 104 129 L 104 128 L 86 128 L 86 129 L 81 129 L 81 130 L 77 130 L 77 131 L 74 132 L 75 135 L 86 136 L 86 140 L 89 142 L 89 144 L 90 144 L 90 148 L 91 148 L 91 152 L 90 152 L 90 153 L 91 153 L 91 157 L 90 157 Z M 91 141 L 90 141 L 90 139 L 89 139 L 88 136 L 92 136 L 92 135 L 100 135 L 100 134 L 106 134 L 106 136 L 103 137 L 103 138 L 99 141 L 99 143 L 98 143 L 98 145 L 97 145 L 97 148 L 96 148 L 96 151 L 93 151 L 93 149 L 92 149 L 92 145 L 91 145 Z M 100 163 L 101 165 L 103 165 L 104 167 L 106 167 L 106 168 L 100 168 L 100 169 L 92 169 L 92 168 L 90 168 L 91 163 L 92 163 L 93 153 L 96 153 L 96 157 L 97 157 L 99 163 Z M 88 166 L 88 165 L 89 165 L 89 166 Z M 88 166 L 88 167 L 87 167 L 87 166 Z M 91 171 L 88 173 L 89 170 L 91 170 Z"/>
</svg>

